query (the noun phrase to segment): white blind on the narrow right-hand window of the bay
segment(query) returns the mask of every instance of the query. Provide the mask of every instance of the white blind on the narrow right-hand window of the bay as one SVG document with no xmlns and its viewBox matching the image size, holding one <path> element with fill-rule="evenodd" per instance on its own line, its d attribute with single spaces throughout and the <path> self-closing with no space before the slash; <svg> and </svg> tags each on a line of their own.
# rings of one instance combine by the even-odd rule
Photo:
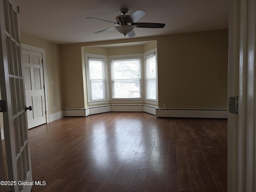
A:
<svg viewBox="0 0 256 192">
<path fill-rule="evenodd" d="M 156 100 L 156 54 L 145 57 L 146 99 Z"/>
</svg>

